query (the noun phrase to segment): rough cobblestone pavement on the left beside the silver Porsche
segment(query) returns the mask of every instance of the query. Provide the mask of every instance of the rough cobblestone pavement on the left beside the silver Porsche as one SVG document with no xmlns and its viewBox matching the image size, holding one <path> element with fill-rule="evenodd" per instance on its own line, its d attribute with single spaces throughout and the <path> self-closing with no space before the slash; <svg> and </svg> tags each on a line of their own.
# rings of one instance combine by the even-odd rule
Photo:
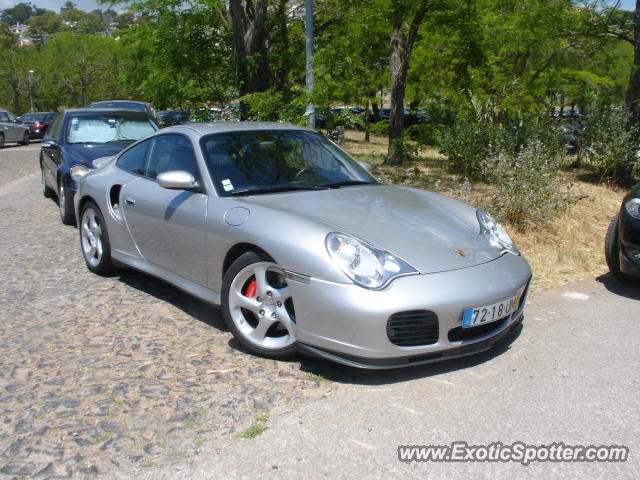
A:
<svg viewBox="0 0 640 480">
<path fill-rule="evenodd" d="M 243 352 L 216 308 L 161 281 L 91 274 L 38 151 L 0 150 L 0 474 L 128 478 L 332 390 Z"/>
</svg>

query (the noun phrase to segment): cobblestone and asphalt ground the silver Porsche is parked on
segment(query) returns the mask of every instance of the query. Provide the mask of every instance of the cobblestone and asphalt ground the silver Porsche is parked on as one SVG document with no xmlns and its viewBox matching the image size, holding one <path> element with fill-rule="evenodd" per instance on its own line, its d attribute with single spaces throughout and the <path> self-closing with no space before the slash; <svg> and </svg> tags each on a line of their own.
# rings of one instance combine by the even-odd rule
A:
<svg viewBox="0 0 640 480">
<path fill-rule="evenodd" d="M 366 372 L 243 352 L 218 310 L 86 269 L 0 150 L 0 473 L 9 478 L 638 478 L 640 291 L 606 276 L 531 299 L 502 348 Z M 255 438 L 239 438 L 251 426 Z M 260 434 L 261 433 L 261 434 Z M 398 445 L 617 444 L 609 464 L 401 463 Z"/>
</svg>

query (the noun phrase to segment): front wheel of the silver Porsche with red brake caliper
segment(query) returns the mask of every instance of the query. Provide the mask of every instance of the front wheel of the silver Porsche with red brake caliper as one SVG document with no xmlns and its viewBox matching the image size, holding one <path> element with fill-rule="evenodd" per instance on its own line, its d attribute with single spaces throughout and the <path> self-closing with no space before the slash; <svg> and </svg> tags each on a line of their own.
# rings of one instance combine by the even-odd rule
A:
<svg viewBox="0 0 640 480">
<path fill-rule="evenodd" d="M 248 351 L 284 359 L 297 351 L 293 300 L 282 270 L 264 254 L 241 255 L 224 275 L 222 314 Z"/>
</svg>

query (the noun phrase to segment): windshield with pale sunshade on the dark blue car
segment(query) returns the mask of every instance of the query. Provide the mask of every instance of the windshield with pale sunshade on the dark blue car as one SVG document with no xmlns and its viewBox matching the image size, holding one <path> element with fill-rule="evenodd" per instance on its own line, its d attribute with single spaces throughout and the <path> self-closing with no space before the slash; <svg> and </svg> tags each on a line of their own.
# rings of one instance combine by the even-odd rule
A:
<svg viewBox="0 0 640 480">
<path fill-rule="evenodd" d="M 67 143 L 109 143 L 138 140 L 157 130 L 146 115 L 108 113 L 74 115 L 67 122 Z"/>
</svg>

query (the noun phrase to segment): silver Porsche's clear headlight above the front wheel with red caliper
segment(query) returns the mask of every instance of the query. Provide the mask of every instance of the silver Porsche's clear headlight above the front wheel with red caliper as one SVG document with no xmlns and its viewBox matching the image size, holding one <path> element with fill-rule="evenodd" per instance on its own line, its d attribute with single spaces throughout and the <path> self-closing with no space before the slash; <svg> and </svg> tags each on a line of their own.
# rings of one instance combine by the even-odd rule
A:
<svg viewBox="0 0 640 480">
<path fill-rule="evenodd" d="M 333 262 L 361 287 L 380 288 L 394 277 L 417 273 L 389 252 L 378 250 L 351 235 L 332 232 L 325 243 Z"/>
</svg>

